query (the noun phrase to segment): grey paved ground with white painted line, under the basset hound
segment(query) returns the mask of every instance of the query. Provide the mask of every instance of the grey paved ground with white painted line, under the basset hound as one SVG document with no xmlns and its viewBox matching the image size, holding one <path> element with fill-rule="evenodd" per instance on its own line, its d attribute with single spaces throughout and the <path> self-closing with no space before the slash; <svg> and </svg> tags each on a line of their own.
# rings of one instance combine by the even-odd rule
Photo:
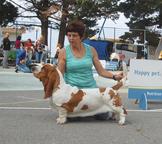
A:
<svg viewBox="0 0 162 144">
<path fill-rule="evenodd" d="M 162 103 L 150 102 L 150 110 L 142 111 L 127 98 L 127 87 L 120 93 L 128 109 L 125 126 L 93 118 L 60 126 L 32 74 L 0 67 L 0 144 L 161 144 Z"/>
</svg>

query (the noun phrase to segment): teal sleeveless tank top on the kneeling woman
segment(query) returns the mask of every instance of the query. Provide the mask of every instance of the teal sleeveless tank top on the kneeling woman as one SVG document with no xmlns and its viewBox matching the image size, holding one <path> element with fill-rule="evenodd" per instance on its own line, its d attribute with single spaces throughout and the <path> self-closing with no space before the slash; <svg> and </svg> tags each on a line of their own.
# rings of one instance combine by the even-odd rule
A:
<svg viewBox="0 0 162 144">
<path fill-rule="evenodd" d="M 66 46 L 64 79 L 67 84 L 78 88 L 95 88 L 97 86 L 92 71 L 92 47 L 84 43 L 83 45 L 86 52 L 82 58 L 76 58 L 71 51 L 70 45 Z"/>
</svg>

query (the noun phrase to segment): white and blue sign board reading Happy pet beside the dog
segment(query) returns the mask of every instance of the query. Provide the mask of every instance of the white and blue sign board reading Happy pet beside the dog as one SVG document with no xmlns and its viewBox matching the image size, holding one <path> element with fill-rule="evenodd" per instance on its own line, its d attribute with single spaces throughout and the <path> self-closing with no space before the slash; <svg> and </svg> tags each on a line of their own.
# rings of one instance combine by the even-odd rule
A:
<svg viewBox="0 0 162 144">
<path fill-rule="evenodd" d="M 162 100 L 162 61 L 130 61 L 128 98 L 138 99 L 141 109 L 148 109 L 147 101 Z"/>
</svg>

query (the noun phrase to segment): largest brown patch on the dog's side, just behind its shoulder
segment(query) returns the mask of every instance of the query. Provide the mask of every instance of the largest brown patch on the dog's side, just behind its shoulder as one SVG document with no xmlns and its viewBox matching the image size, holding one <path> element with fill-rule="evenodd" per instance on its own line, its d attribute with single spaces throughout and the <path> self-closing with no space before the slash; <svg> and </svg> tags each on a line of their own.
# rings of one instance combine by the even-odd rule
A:
<svg viewBox="0 0 162 144">
<path fill-rule="evenodd" d="M 62 104 L 62 107 L 65 108 L 68 112 L 73 112 L 74 108 L 78 106 L 80 101 L 82 101 L 82 98 L 84 96 L 84 92 L 82 90 L 79 90 L 77 93 L 71 94 L 71 99 Z"/>
</svg>

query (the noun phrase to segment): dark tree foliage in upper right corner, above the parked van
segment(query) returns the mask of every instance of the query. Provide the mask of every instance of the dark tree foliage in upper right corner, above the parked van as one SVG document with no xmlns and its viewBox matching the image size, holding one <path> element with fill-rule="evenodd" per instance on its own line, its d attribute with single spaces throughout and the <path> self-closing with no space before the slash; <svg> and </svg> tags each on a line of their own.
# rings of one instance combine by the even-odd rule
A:
<svg viewBox="0 0 162 144">
<path fill-rule="evenodd" d="M 157 46 L 160 36 L 157 28 L 162 28 L 161 0 L 125 0 L 120 3 L 119 10 L 129 18 L 128 27 L 146 30 L 148 44 Z M 129 37 L 139 36 L 139 43 L 144 43 L 143 35 L 141 31 L 132 31 Z"/>
</svg>

